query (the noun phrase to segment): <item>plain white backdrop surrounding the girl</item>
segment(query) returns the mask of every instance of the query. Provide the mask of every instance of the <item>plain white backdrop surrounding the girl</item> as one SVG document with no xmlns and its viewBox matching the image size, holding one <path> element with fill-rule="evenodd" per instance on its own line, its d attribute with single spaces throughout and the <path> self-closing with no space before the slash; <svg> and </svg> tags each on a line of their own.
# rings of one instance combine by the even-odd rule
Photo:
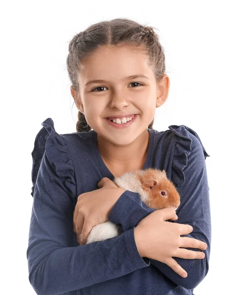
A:
<svg viewBox="0 0 239 295">
<path fill-rule="evenodd" d="M 46 118 L 54 120 L 60 134 L 76 132 L 78 110 L 66 69 L 69 41 L 93 23 L 119 17 L 157 28 L 165 50 L 171 86 L 166 103 L 156 110 L 153 128 L 186 125 L 197 132 L 210 155 L 209 273 L 194 294 L 239 294 L 236 2 L 68 0 L 1 5 L 1 294 L 35 294 L 26 254 L 31 152 Z"/>
</svg>

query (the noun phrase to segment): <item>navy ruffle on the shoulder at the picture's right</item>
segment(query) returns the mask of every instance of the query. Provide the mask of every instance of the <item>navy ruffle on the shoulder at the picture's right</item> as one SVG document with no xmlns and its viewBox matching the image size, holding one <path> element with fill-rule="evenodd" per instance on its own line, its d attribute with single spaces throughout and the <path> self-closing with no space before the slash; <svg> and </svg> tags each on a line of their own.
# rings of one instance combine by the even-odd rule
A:
<svg viewBox="0 0 239 295">
<path fill-rule="evenodd" d="M 209 157 L 209 154 L 206 152 L 198 134 L 193 129 L 185 125 L 170 125 L 169 129 L 176 135 L 174 137 L 175 145 L 172 163 L 172 179 L 176 185 L 179 185 L 185 181 L 183 170 L 187 166 L 188 156 L 191 153 L 192 139 L 189 133 L 199 140 L 203 148 L 205 160 Z"/>
</svg>

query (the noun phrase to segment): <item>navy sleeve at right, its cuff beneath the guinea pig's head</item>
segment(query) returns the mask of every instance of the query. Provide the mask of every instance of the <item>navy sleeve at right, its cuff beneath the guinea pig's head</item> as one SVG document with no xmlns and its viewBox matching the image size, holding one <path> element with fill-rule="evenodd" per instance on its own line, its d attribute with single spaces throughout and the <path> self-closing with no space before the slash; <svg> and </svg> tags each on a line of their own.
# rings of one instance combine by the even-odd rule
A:
<svg viewBox="0 0 239 295">
<path fill-rule="evenodd" d="M 181 204 L 177 210 L 179 218 L 173 222 L 189 224 L 193 227 L 193 232 L 185 236 L 197 238 L 207 243 L 208 248 L 203 251 L 205 258 L 189 260 L 174 257 L 188 273 L 186 278 L 180 277 L 172 268 L 159 261 L 150 259 L 150 264 L 162 271 L 177 285 L 186 289 L 194 289 L 209 270 L 211 221 L 204 151 L 201 142 L 194 135 L 189 134 L 189 136 L 191 138 L 191 152 L 187 157 L 187 166 L 183 170 L 185 181 L 177 188 L 181 197 Z M 126 191 L 113 207 L 109 220 L 120 224 L 120 229 L 127 231 L 130 227 L 136 227 L 140 220 L 152 211 L 154 209 L 147 207 L 141 201 L 138 193 Z M 202 251 L 194 248 L 187 249 Z"/>
</svg>

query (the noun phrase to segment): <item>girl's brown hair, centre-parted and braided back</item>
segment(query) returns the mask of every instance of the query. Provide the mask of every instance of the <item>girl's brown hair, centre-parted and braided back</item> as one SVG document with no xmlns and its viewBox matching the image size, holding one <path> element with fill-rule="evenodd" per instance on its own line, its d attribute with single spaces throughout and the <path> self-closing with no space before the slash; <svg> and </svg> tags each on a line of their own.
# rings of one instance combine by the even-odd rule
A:
<svg viewBox="0 0 239 295">
<path fill-rule="evenodd" d="M 77 93 L 79 93 L 78 74 L 80 72 L 80 61 L 90 52 L 107 44 L 125 43 L 128 46 L 143 46 L 148 55 L 149 67 L 154 72 L 156 81 L 160 82 L 165 74 L 165 56 L 158 35 L 153 29 L 153 27 L 142 26 L 133 20 L 117 18 L 93 24 L 76 34 L 69 43 L 69 54 L 66 60 L 68 75 L 76 91 L 76 97 Z M 148 128 L 153 129 L 153 121 L 154 118 Z M 91 130 L 85 115 L 80 111 L 78 112 L 76 130 L 77 132 Z"/>
</svg>

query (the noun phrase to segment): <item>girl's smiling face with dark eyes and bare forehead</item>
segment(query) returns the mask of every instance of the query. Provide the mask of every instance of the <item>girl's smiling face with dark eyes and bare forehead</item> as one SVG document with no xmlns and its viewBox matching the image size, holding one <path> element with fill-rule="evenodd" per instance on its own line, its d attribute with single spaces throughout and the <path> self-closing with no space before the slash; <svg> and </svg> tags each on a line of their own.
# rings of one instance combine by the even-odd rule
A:
<svg viewBox="0 0 239 295">
<path fill-rule="evenodd" d="M 168 96 L 168 76 L 163 95 L 146 58 L 143 51 L 127 46 L 104 45 L 83 60 L 76 105 L 98 136 L 117 146 L 128 145 L 146 133 L 156 107 Z M 133 75 L 147 78 L 127 78 Z M 115 128 L 107 121 L 129 114 L 137 116 L 126 128 Z"/>
</svg>

